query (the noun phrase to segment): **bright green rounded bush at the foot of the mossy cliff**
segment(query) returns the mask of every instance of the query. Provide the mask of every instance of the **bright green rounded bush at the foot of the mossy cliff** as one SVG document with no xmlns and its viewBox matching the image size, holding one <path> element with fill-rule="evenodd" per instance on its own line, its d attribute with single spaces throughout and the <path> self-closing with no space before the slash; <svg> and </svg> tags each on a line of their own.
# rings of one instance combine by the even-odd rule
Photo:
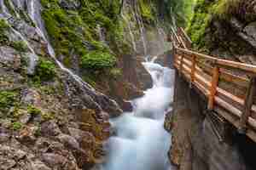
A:
<svg viewBox="0 0 256 170">
<path fill-rule="evenodd" d="M 81 66 L 85 69 L 102 70 L 113 67 L 116 59 L 113 54 L 101 51 L 91 51 L 82 56 Z"/>
</svg>

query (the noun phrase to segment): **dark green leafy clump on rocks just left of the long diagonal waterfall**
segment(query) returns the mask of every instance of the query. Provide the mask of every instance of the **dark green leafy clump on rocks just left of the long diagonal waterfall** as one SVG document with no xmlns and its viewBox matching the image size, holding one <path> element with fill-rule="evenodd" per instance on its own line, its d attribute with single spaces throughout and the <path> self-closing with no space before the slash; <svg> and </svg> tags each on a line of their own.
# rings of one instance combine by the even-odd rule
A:
<svg viewBox="0 0 256 170">
<path fill-rule="evenodd" d="M 47 59 L 40 58 L 36 67 L 35 81 L 50 81 L 55 77 L 55 64 Z"/>
</svg>

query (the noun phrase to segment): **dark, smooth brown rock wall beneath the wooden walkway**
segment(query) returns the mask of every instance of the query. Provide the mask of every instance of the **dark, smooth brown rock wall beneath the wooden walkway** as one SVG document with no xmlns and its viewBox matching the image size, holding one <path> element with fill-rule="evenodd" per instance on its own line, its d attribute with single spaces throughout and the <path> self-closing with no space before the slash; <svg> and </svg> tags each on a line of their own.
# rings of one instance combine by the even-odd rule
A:
<svg viewBox="0 0 256 170">
<path fill-rule="evenodd" d="M 234 127 L 213 112 L 207 112 L 207 102 L 189 83 L 176 74 L 173 111 L 166 116 L 166 129 L 172 132 L 169 152 L 172 163 L 180 170 L 254 169 L 245 136 L 239 136 Z M 217 132 L 223 139 L 219 139 Z M 241 142 L 243 141 L 243 142 Z M 241 151 L 241 148 L 243 148 Z"/>
</svg>

